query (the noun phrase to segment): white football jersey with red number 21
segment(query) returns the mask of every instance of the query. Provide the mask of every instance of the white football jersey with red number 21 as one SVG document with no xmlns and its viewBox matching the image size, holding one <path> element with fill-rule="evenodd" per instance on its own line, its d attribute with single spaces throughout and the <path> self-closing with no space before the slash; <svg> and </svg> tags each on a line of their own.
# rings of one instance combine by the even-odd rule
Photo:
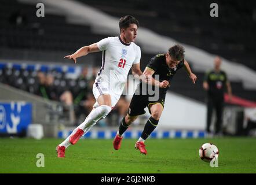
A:
<svg viewBox="0 0 256 185">
<path fill-rule="evenodd" d="M 122 42 L 119 36 L 102 39 L 97 46 L 103 57 L 95 82 L 107 83 L 109 90 L 122 94 L 131 66 L 140 63 L 140 47 Z"/>
</svg>

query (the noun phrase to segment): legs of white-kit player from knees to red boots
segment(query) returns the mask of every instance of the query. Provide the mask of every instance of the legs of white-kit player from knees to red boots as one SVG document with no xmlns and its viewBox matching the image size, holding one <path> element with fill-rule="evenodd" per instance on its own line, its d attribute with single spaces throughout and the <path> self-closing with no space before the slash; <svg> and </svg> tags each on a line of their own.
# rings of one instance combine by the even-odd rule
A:
<svg viewBox="0 0 256 185">
<path fill-rule="evenodd" d="M 111 112 L 111 96 L 109 94 L 102 94 L 100 97 L 98 97 L 97 102 L 100 106 L 97 108 L 94 108 L 92 112 L 86 117 L 85 121 L 83 121 L 82 124 L 80 124 L 78 127 L 74 129 L 72 134 L 67 137 L 67 139 L 64 140 L 64 142 L 60 143 L 58 146 L 64 146 L 64 153 L 65 149 L 67 149 L 68 146 L 75 145 L 76 142 L 81 138 L 81 136 L 85 135 L 90 128 L 93 127 L 94 124 L 97 123 L 97 121 L 104 119 L 109 112 Z M 58 157 L 64 156 L 63 151 L 59 151 L 58 149 L 60 147 L 57 147 L 57 153 Z"/>
</svg>

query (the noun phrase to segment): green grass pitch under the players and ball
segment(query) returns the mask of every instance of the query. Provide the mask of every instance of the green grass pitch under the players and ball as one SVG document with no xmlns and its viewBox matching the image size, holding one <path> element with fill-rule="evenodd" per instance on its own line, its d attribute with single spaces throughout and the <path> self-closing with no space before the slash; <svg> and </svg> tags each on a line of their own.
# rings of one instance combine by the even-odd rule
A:
<svg viewBox="0 0 256 185">
<path fill-rule="evenodd" d="M 57 158 L 62 139 L 0 139 L 0 173 L 255 173 L 256 138 L 148 139 L 148 155 L 134 149 L 134 139 L 123 139 L 121 149 L 112 139 L 81 139 Z M 220 150 L 218 168 L 199 158 L 206 142 Z M 36 154 L 45 167 L 36 166 Z"/>
</svg>

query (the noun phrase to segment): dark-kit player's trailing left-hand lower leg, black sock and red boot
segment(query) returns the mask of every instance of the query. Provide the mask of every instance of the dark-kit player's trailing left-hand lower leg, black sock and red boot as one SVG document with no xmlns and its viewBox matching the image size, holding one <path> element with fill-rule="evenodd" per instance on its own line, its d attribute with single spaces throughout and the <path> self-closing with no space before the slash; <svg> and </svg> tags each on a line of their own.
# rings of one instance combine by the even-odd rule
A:
<svg viewBox="0 0 256 185">
<path fill-rule="evenodd" d="M 118 132 L 116 133 L 116 136 L 113 140 L 113 146 L 115 150 L 119 150 L 121 147 L 121 142 L 123 139 L 123 133 L 126 131 L 127 128 L 129 128 L 130 124 L 133 123 L 137 119 L 138 116 L 129 116 L 127 114 L 120 122 Z"/>
</svg>

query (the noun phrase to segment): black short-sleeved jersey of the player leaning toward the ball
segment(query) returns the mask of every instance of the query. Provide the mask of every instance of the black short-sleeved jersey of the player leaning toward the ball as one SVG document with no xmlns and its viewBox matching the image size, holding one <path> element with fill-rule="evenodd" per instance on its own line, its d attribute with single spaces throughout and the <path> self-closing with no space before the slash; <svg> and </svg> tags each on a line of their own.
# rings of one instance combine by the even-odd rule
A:
<svg viewBox="0 0 256 185">
<path fill-rule="evenodd" d="M 167 80 L 169 83 L 173 76 L 178 71 L 178 69 L 184 66 L 184 59 L 182 59 L 174 68 L 169 68 L 166 64 L 166 56 L 165 54 L 157 54 L 156 56 L 152 57 L 149 61 L 147 67 L 155 71 L 153 73 L 153 78 L 155 75 L 159 75 L 159 82 L 163 82 L 163 80 Z M 160 88 L 160 93 L 166 94 L 169 87 Z"/>
</svg>

